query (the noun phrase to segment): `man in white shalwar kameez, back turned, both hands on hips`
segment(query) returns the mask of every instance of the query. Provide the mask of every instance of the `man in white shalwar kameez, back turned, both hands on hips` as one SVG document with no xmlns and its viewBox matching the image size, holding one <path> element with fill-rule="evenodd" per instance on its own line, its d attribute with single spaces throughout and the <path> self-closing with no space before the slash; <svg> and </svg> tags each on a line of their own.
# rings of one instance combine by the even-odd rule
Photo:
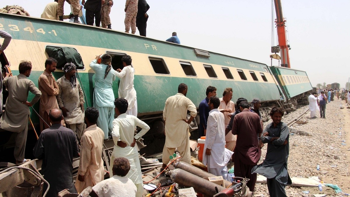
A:
<svg viewBox="0 0 350 197">
<path fill-rule="evenodd" d="M 144 187 L 142 185 L 141 165 L 139 153 L 135 147 L 136 140 L 139 140 L 149 130 L 149 126 L 133 115 L 127 115 L 125 112 L 128 109 L 128 102 L 123 98 L 114 101 L 114 112 L 118 116 L 113 121 L 112 137 L 114 141 L 113 154 L 111 161 L 114 158 L 125 157 L 130 162 L 130 171 L 126 175 L 130 178 L 137 187 L 136 197 L 142 197 Z M 134 136 L 136 126 L 142 130 Z M 113 164 L 111 163 L 111 169 Z M 112 175 L 110 174 L 112 178 Z"/>
</svg>

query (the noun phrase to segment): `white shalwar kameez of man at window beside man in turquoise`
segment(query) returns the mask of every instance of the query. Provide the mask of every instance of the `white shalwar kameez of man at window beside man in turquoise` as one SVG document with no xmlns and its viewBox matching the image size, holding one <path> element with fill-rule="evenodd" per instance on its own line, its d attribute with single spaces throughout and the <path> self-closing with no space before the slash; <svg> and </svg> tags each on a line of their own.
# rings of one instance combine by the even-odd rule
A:
<svg viewBox="0 0 350 197">
<path fill-rule="evenodd" d="M 136 102 L 136 91 L 134 89 L 134 73 L 135 70 L 131 66 L 124 67 L 120 73 L 116 72 L 117 77 L 120 78 L 118 97 L 124 98 L 128 101 L 128 109 L 133 108 Z"/>
</svg>

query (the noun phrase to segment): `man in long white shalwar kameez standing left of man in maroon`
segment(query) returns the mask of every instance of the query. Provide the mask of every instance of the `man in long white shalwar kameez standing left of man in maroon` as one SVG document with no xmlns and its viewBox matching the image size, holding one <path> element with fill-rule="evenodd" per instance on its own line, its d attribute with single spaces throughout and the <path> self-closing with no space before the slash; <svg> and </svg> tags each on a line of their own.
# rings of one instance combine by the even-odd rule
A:
<svg viewBox="0 0 350 197">
<path fill-rule="evenodd" d="M 230 157 L 225 159 L 225 152 L 230 151 L 225 149 L 225 117 L 217 109 L 219 105 L 220 100 L 218 97 L 210 97 L 208 106 L 211 111 L 209 112 L 207 134 L 205 135 L 203 164 L 207 165 L 209 173 L 222 176 L 227 181 L 231 181 L 226 167 L 227 160 Z M 230 154 L 232 156 L 233 152 L 230 151 Z"/>
</svg>

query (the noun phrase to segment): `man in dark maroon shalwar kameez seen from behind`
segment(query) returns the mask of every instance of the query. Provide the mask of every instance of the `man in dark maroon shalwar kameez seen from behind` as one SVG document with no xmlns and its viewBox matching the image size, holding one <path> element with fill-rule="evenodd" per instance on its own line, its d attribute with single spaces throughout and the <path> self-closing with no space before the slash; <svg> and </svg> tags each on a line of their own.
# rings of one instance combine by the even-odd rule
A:
<svg viewBox="0 0 350 197">
<path fill-rule="evenodd" d="M 249 103 L 239 103 L 241 113 L 233 119 L 232 134 L 237 135 L 237 143 L 232 160 L 235 162 L 235 176 L 249 178 L 247 186 L 254 191 L 257 174 L 251 174 L 261 156 L 260 137 L 262 125 L 258 114 L 249 110 Z"/>
</svg>

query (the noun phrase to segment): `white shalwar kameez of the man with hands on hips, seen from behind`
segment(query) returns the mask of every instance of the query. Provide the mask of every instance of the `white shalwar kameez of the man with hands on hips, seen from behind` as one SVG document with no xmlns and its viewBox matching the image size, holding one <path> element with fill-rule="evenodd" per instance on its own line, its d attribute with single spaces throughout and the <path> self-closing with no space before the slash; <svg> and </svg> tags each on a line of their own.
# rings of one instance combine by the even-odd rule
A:
<svg viewBox="0 0 350 197">
<path fill-rule="evenodd" d="M 134 131 L 136 126 L 140 127 L 142 130 L 134 136 Z M 112 137 L 114 141 L 113 148 L 113 156 L 114 158 L 125 157 L 130 162 L 130 171 L 126 175 L 130 178 L 135 184 L 142 183 L 141 177 L 141 165 L 139 160 L 139 153 L 137 151 L 137 147 L 131 147 L 130 145 L 133 143 L 134 138 L 139 139 L 149 130 L 149 126 L 139 120 L 139 118 L 120 114 L 113 121 L 113 130 Z M 118 141 L 123 141 L 127 144 L 125 148 L 121 148 L 117 145 Z M 113 157 L 112 157 L 113 158 Z M 113 160 L 111 160 L 113 161 Z M 113 167 L 113 163 L 111 162 L 111 169 Z"/>
</svg>

